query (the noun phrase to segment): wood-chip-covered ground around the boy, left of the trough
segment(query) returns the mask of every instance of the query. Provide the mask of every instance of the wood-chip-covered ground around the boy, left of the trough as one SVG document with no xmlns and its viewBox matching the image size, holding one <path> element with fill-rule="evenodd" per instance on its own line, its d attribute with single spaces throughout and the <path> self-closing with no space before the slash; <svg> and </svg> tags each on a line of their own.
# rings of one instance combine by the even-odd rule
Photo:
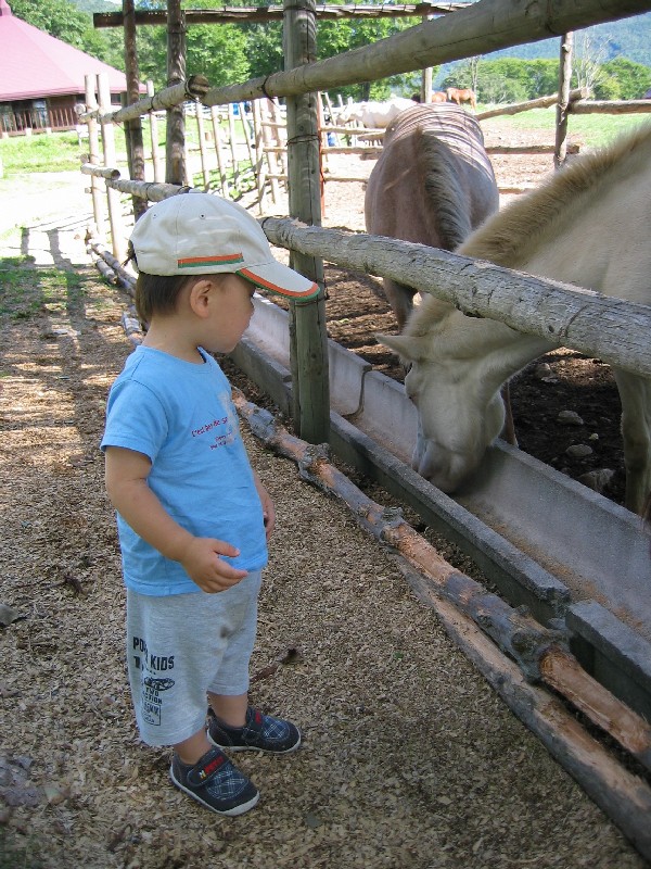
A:
<svg viewBox="0 0 651 869">
<path fill-rule="evenodd" d="M 79 179 L 59 181 L 55 202 L 41 197 L 36 212 L 21 213 L 20 231 L 0 229 L 11 300 L 0 320 L 0 603 L 11 610 L 0 628 L 0 867 L 646 866 L 381 546 L 246 431 L 278 509 L 252 698 L 295 719 L 305 742 L 286 758 L 238 758 L 263 794 L 239 819 L 212 816 L 170 786 L 168 752 L 143 746 L 135 730 L 98 450 L 107 389 L 130 352 L 127 299 L 89 265 Z M 3 219 L 28 186 L 17 199 L 0 186 Z M 362 228 L 346 223 L 356 187 L 340 193 L 339 213 L 335 196 L 327 200 L 329 225 Z M 16 286 L 21 253 L 34 264 Z M 65 269 L 63 294 L 49 290 L 54 266 Z M 347 318 L 337 280 L 332 272 L 333 331 Z M 358 307 L 378 305 L 369 331 L 386 328 L 372 288 L 360 295 L 355 278 L 343 282 Z M 356 330 L 349 340 L 371 347 Z M 458 557 L 445 543 L 442 554 Z"/>
</svg>

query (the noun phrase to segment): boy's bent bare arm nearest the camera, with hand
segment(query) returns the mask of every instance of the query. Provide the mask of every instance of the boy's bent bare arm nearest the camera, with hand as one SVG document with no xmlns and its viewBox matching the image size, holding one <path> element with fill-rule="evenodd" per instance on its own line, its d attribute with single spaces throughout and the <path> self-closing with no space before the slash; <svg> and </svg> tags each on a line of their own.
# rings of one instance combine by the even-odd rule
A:
<svg viewBox="0 0 651 869">
<path fill-rule="evenodd" d="M 151 462 L 143 453 L 107 446 L 105 456 L 106 491 L 115 509 L 139 537 L 179 562 L 200 589 L 224 591 L 246 576 L 219 557 L 233 557 L 239 550 L 222 540 L 194 537 L 171 518 L 148 484 Z"/>
</svg>

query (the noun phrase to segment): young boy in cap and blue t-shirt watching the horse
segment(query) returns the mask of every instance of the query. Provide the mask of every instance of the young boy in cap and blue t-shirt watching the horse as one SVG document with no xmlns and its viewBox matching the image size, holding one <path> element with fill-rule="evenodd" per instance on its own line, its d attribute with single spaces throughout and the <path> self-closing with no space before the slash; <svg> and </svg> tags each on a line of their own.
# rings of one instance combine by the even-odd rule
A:
<svg viewBox="0 0 651 869">
<path fill-rule="evenodd" d="M 235 347 L 256 286 L 294 299 L 319 288 L 273 259 L 244 209 L 207 193 L 153 205 L 131 247 L 148 331 L 111 389 L 102 450 L 133 706 L 142 740 L 174 747 L 173 782 L 219 815 L 241 815 L 259 794 L 221 748 L 293 752 L 301 733 L 247 702 L 275 512 L 210 354 Z"/>
</svg>

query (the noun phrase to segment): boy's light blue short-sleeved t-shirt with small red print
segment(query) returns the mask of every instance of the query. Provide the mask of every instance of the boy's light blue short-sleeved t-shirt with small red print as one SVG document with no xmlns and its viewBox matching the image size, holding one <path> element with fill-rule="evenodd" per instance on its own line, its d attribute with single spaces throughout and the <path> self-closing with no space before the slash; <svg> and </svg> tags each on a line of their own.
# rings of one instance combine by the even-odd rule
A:
<svg viewBox="0 0 651 869">
<path fill-rule="evenodd" d="M 146 455 L 148 484 L 167 513 L 195 537 L 237 546 L 240 555 L 225 558 L 229 564 L 259 570 L 267 564 L 263 507 L 230 385 L 200 352 L 203 365 L 137 348 L 111 388 L 101 446 Z M 199 591 L 178 562 L 138 537 L 119 514 L 117 527 L 127 588 L 157 596 Z"/>
</svg>

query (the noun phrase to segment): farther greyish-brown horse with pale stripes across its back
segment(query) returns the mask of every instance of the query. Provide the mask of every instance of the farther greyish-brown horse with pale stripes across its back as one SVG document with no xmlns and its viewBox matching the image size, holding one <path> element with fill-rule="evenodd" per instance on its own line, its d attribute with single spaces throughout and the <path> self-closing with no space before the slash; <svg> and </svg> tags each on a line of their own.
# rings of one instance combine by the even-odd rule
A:
<svg viewBox="0 0 651 869">
<path fill-rule="evenodd" d="M 394 118 L 369 177 L 369 232 L 451 251 L 497 211 L 499 194 L 477 122 L 457 105 L 414 105 Z M 400 328 L 414 290 L 387 278 Z"/>
</svg>

